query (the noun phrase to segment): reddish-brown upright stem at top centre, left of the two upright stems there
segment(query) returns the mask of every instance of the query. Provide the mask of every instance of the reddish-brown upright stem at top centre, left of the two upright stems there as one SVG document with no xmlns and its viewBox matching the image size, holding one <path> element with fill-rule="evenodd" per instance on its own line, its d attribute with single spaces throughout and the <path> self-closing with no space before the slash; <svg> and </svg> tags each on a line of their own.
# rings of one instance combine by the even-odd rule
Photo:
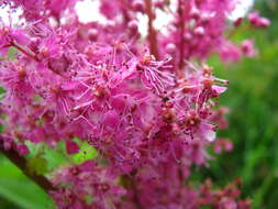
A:
<svg viewBox="0 0 278 209">
<path fill-rule="evenodd" d="M 158 54 L 158 47 L 157 47 L 157 34 L 156 30 L 154 29 L 153 22 L 154 22 L 154 12 L 153 12 L 153 3 L 152 0 L 144 0 L 145 1 L 145 8 L 146 8 L 146 14 L 148 16 L 148 43 L 151 47 L 151 53 L 156 57 L 159 58 Z"/>
</svg>

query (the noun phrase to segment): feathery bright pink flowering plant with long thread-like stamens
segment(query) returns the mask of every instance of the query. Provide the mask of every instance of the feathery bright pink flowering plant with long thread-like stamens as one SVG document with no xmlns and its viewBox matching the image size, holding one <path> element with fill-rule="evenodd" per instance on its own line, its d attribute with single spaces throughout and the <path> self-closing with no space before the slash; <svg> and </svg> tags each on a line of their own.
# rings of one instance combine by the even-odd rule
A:
<svg viewBox="0 0 278 209">
<path fill-rule="evenodd" d="M 58 209 L 249 208 L 241 180 L 223 189 L 189 180 L 210 144 L 232 150 L 215 135 L 227 127 L 215 99 L 229 82 L 205 59 L 256 55 L 251 40 L 229 41 L 243 21 L 229 21 L 237 0 L 100 0 L 104 23 L 80 22 L 77 0 L 0 2 L 24 20 L 0 28 L 0 147 Z M 170 16 L 164 32 L 154 26 L 157 11 Z M 138 15 L 148 18 L 146 36 Z M 269 25 L 257 12 L 247 21 Z M 60 142 L 68 156 L 84 142 L 97 154 L 47 175 L 27 168 L 30 143 Z"/>
</svg>

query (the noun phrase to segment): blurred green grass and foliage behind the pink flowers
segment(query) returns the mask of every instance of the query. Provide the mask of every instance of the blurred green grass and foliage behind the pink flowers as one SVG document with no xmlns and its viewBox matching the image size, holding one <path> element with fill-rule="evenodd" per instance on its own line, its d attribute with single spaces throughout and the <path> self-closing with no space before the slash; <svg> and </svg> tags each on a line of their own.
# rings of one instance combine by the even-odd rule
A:
<svg viewBox="0 0 278 209">
<path fill-rule="evenodd" d="M 219 136 L 232 139 L 234 151 L 215 156 L 210 168 L 198 168 L 194 178 L 209 177 L 216 186 L 224 186 L 242 177 L 242 196 L 253 199 L 254 209 L 277 209 L 278 1 L 256 1 L 255 8 L 271 20 L 271 26 L 247 30 L 233 38 L 236 42 L 254 38 L 259 55 L 231 66 L 223 65 L 216 57 L 209 62 L 218 69 L 218 77 L 230 80 L 229 91 L 220 99 L 221 105 L 231 109 L 230 128 L 220 131 Z M 48 156 L 57 164 L 65 160 L 54 153 Z M 43 165 L 44 162 L 35 164 Z M 0 165 L 0 209 L 53 209 L 47 196 L 1 155 Z M 38 169 L 43 172 L 44 167 Z"/>
</svg>

